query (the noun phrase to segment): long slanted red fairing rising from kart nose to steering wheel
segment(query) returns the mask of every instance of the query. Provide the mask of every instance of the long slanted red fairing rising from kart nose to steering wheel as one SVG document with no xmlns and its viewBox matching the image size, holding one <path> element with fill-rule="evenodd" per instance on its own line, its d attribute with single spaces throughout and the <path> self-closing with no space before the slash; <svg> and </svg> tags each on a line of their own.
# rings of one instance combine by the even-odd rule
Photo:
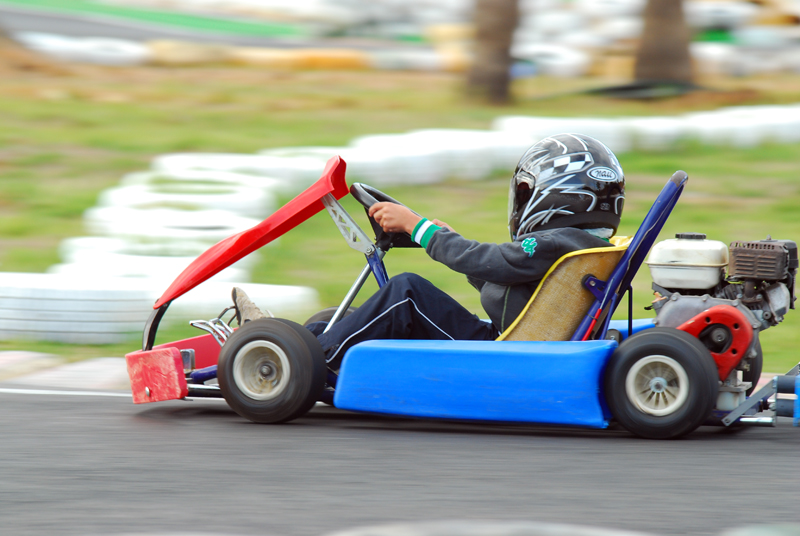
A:
<svg viewBox="0 0 800 536">
<path fill-rule="evenodd" d="M 338 156 L 328 160 L 322 177 L 303 193 L 255 227 L 218 242 L 192 261 L 158 299 L 153 309 L 158 309 L 182 296 L 234 262 L 269 244 L 317 212 L 322 211 L 325 206 L 321 199 L 325 195 L 332 194 L 336 199 L 347 195 L 348 188 L 344 179 L 345 167 L 344 160 Z"/>
</svg>

